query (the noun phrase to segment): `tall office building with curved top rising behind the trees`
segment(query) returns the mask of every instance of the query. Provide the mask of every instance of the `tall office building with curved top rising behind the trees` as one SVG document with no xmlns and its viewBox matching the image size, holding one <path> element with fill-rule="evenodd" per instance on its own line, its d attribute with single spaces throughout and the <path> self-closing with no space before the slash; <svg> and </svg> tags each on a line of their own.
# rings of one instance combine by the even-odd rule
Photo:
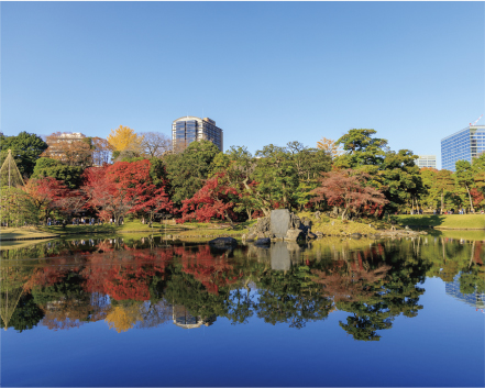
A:
<svg viewBox="0 0 485 388">
<path fill-rule="evenodd" d="M 199 140 L 208 140 L 223 151 L 222 130 L 216 126 L 216 121 L 187 115 L 172 123 L 172 145 L 175 151 L 184 149 Z"/>
</svg>

